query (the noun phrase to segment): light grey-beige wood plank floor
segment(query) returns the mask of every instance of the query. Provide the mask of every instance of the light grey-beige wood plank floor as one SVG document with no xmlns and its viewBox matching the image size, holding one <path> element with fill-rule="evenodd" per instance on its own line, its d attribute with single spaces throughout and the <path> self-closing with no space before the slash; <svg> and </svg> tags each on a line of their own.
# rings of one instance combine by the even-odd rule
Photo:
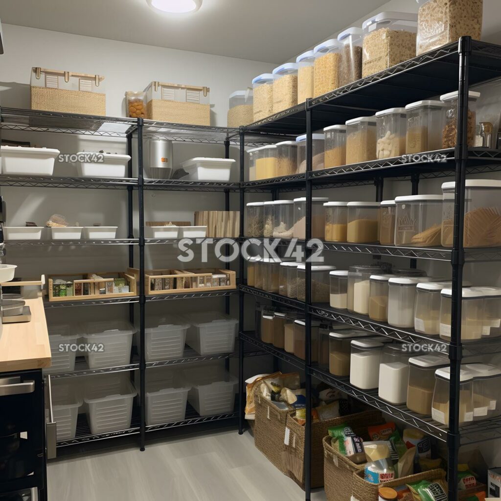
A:
<svg viewBox="0 0 501 501">
<path fill-rule="evenodd" d="M 254 446 L 221 431 L 137 448 L 64 457 L 48 467 L 49 501 L 304 501 Z M 325 493 L 312 501 L 325 501 Z"/>
</svg>

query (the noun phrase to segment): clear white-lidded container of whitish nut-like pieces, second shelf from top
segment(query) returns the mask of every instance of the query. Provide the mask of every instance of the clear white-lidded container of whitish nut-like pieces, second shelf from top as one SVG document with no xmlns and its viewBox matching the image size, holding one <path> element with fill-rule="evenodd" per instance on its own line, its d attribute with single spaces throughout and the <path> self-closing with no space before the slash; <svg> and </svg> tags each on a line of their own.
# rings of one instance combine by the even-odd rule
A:
<svg viewBox="0 0 501 501">
<path fill-rule="evenodd" d="M 405 154 L 407 112 L 405 108 L 390 108 L 376 113 L 376 158 L 392 158 Z"/>
</svg>

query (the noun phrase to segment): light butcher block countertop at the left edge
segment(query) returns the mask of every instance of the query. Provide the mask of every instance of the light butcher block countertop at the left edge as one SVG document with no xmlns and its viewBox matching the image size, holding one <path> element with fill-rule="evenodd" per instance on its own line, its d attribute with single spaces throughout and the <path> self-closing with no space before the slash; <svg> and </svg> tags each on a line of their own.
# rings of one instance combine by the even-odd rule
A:
<svg viewBox="0 0 501 501">
<path fill-rule="evenodd" d="M 3 325 L 0 334 L 0 372 L 51 366 L 51 347 L 42 298 L 23 301 L 30 307 L 32 320 Z"/>
</svg>

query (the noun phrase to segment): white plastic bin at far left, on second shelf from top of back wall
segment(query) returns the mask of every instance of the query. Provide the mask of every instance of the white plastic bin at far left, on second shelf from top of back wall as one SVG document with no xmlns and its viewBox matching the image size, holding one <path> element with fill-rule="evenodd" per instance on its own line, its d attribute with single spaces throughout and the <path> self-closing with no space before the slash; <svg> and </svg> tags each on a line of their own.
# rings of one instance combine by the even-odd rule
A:
<svg viewBox="0 0 501 501">
<path fill-rule="evenodd" d="M 2 174 L 52 176 L 54 159 L 59 155 L 59 150 L 2 146 L 0 153 L 2 154 Z"/>
</svg>

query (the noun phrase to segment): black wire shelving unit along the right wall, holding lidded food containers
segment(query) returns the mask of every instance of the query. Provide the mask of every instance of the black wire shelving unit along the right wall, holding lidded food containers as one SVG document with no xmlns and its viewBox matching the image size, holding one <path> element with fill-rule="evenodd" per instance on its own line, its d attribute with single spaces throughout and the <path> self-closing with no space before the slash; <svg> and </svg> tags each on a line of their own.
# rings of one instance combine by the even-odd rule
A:
<svg viewBox="0 0 501 501">
<path fill-rule="evenodd" d="M 471 85 L 487 82 L 501 77 L 501 46 L 478 42 L 463 37 L 458 42 L 422 54 L 388 70 L 360 79 L 323 96 L 309 99 L 302 105 L 272 115 L 267 119 L 240 128 L 240 238 L 243 236 L 243 210 L 245 195 L 253 192 L 268 192 L 272 199 L 278 199 L 281 192 L 306 191 L 306 240 L 311 237 L 312 229 L 312 191 L 335 187 L 367 186 L 376 188 L 376 200 L 382 199 L 385 179 L 410 181 L 412 194 L 418 193 L 420 179 L 433 179 L 454 176 L 456 181 L 454 239 L 452 248 L 398 247 L 377 243 L 354 245 L 349 243 L 320 242 L 318 245 L 327 252 L 349 254 L 370 254 L 373 256 L 393 256 L 409 258 L 411 267 L 416 260 L 448 262 L 452 267 L 452 337 L 446 344 L 451 364 L 450 418 L 448 427 L 442 426 L 426 416 L 419 416 L 405 406 L 393 406 L 378 398 L 377 392 L 361 391 L 350 385 L 347 378 L 337 378 L 321 370 L 312 363 L 311 320 L 324 319 L 352 325 L 368 332 L 391 337 L 398 341 L 419 345 L 429 342 L 413 330 L 401 330 L 388 324 L 373 322 L 361 315 L 346 311 L 336 311 L 329 305 L 312 304 L 311 301 L 311 263 L 306 265 L 306 301 L 290 300 L 277 294 L 270 294 L 248 287 L 243 280 L 244 260 L 240 257 L 239 273 L 239 384 L 240 395 L 243 390 L 244 345 L 264 350 L 276 359 L 288 362 L 306 375 L 307 423 L 305 429 L 305 497 L 311 499 L 311 388 L 312 378 L 338 388 L 361 402 L 391 414 L 395 419 L 447 443 L 448 447 L 448 485 L 449 499 L 457 499 L 457 455 L 461 445 L 501 437 L 501 419 L 488 419 L 468 426 L 459 427 L 459 368 L 461 358 L 469 354 L 501 351 L 501 344 L 495 340 L 461 344 L 461 284 L 462 271 L 466 263 L 501 261 L 501 249 L 463 248 L 462 233 L 464 222 L 464 186 L 466 174 L 481 174 L 501 170 L 501 151 L 487 148 L 468 148 L 466 138 L 468 89 Z M 359 116 L 373 115 L 376 111 L 402 107 L 408 103 L 429 99 L 434 96 L 458 90 L 457 146 L 419 156 L 402 156 L 385 160 L 375 160 L 355 165 L 312 170 L 312 133 L 334 124 L 344 124 Z M 306 174 L 274 178 L 261 181 L 244 181 L 243 146 L 247 134 L 284 134 L 300 135 L 306 132 Z M 262 239 L 264 240 L 264 239 Z M 311 256 L 317 246 L 306 245 L 304 241 L 294 243 L 304 249 L 305 258 Z M 290 245 L 289 240 L 277 242 L 278 247 Z M 284 350 L 263 343 L 254 332 L 243 329 L 244 298 L 270 300 L 275 305 L 293 308 L 304 312 L 306 318 L 306 358 L 298 359 Z M 433 340 L 437 343 L 437 340 Z M 439 344 L 443 344 L 439 340 Z M 244 402 L 239 402 L 239 433 L 244 429 Z"/>
</svg>

